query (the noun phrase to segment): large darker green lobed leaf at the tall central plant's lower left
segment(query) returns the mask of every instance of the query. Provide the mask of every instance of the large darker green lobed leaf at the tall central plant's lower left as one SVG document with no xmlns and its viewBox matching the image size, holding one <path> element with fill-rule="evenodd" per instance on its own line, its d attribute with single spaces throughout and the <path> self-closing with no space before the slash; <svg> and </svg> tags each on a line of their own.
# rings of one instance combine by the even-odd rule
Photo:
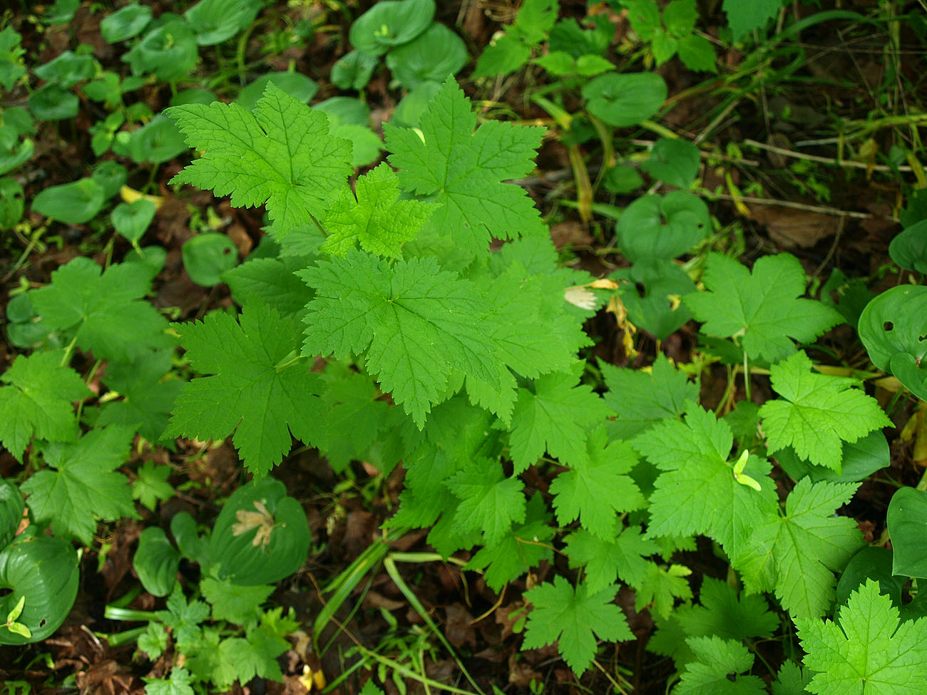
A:
<svg viewBox="0 0 927 695">
<path fill-rule="evenodd" d="M 323 382 L 298 358 L 299 324 L 264 304 L 246 305 L 239 322 L 211 313 L 176 326 L 199 373 L 184 385 L 166 436 L 233 442 L 248 470 L 269 472 L 292 444 L 323 435 Z"/>
</svg>

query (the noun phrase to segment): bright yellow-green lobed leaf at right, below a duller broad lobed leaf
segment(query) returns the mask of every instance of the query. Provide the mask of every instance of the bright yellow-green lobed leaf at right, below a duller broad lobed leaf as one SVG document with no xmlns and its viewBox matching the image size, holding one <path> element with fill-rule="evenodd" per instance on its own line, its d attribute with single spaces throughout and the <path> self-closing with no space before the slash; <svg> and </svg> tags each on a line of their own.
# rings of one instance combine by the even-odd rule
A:
<svg viewBox="0 0 927 695">
<path fill-rule="evenodd" d="M 843 443 L 853 443 L 892 421 L 875 398 L 855 379 L 811 371 L 804 352 L 774 364 L 772 387 L 782 398 L 768 400 L 759 410 L 769 453 L 792 446 L 811 463 L 840 471 Z"/>
</svg>

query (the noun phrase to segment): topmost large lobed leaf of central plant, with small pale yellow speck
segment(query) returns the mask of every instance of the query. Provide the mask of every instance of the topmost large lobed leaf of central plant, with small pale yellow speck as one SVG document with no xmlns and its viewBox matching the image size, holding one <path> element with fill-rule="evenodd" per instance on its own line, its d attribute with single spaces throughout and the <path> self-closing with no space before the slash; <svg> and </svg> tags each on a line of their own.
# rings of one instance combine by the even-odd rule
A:
<svg viewBox="0 0 927 695">
<path fill-rule="evenodd" d="M 470 100 L 445 82 L 419 120 L 418 133 L 384 126 L 389 163 L 407 191 L 435 195 L 432 224 L 470 256 L 490 237 L 542 236 L 547 230 L 525 189 L 502 183 L 534 168 L 541 128 L 489 120 L 476 128 Z"/>
</svg>

